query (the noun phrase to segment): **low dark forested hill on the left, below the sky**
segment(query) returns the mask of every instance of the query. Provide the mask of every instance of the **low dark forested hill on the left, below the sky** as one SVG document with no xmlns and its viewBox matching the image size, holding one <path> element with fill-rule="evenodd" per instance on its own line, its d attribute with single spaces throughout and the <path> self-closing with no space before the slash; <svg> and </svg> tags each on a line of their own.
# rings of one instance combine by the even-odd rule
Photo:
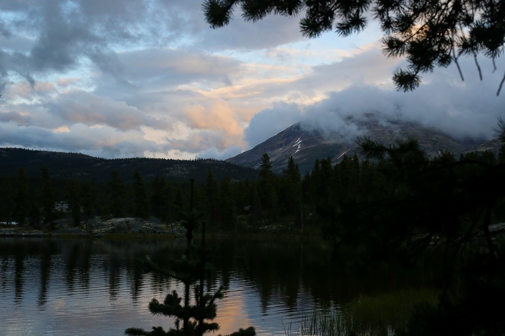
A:
<svg viewBox="0 0 505 336">
<path fill-rule="evenodd" d="M 40 167 L 46 165 L 55 179 L 78 178 L 93 182 L 108 182 L 111 173 L 118 171 L 125 182 L 138 170 L 144 179 L 163 176 L 173 181 L 194 178 L 204 182 L 212 170 L 216 179 L 256 179 L 258 174 L 249 167 L 214 159 L 174 160 L 156 158 L 104 159 L 79 153 L 63 153 L 22 148 L 0 148 L 0 174 L 15 175 L 23 167 L 28 177 L 39 177 Z"/>
</svg>

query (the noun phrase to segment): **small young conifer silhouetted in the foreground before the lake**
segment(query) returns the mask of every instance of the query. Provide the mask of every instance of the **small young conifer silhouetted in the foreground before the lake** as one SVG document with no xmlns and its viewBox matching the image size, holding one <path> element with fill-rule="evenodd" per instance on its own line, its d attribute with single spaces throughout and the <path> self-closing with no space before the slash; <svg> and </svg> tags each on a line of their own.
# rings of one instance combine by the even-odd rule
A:
<svg viewBox="0 0 505 336">
<path fill-rule="evenodd" d="M 200 245 L 193 244 L 193 234 L 198 226 L 201 214 L 193 208 L 194 180 L 191 180 L 191 193 L 189 211 L 182 214 L 182 226 L 186 229 L 186 254 L 180 260 L 172 261 L 171 269 L 164 269 L 153 262 L 147 264 L 151 269 L 161 271 L 178 279 L 184 285 L 184 296 L 180 297 L 177 291 L 172 291 L 163 301 L 153 299 L 149 303 L 149 310 L 153 314 L 163 314 L 175 317 L 175 328 L 165 331 L 162 327 L 153 327 L 152 331 L 139 328 L 128 328 L 128 335 L 170 335 L 170 336 L 201 336 L 208 331 L 216 331 L 219 325 L 207 322 L 216 317 L 216 300 L 223 298 L 222 287 L 215 293 L 205 293 L 205 279 L 210 272 L 210 250 L 206 247 L 205 223 L 202 227 Z M 193 286 L 194 303 L 190 303 L 191 287 Z M 182 326 L 181 326 L 182 322 Z M 233 333 L 234 336 L 256 335 L 254 327 L 240 329 Z"/>
</svg>

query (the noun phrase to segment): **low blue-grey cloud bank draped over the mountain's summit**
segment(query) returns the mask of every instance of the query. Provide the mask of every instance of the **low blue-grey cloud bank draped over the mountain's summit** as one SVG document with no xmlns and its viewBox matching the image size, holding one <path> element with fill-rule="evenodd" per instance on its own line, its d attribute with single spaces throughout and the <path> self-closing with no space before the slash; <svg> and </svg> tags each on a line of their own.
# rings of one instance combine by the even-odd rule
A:
<svg viewBox="0 0 505 336">
<path fill-rule="evenodd" d="M 477 75 L 472 60 L 462 60 L 460 66 L 470 74 L 464 82 L 454 68 L 437 69 L 436 75 L 425 76 L 424 83 L 413 92 L 362 83 L 330 91 L 313 104 L 275 104 L 252 118 L 245 130 L 246 140 L 253 147 L 298 121 L 308 129 L 336 131 L 352 138 L 361 132 L 348 117 L 356 121 L 365 113 L 434 127 L 459 140 L 490 139 L 505 106 L 505 95 L 495 96 L 499 76 L 490 75 L 490 65 L 481 65 L 490 77 L 481 82 L 478 76 L 472 77 Z"/>
</svg>

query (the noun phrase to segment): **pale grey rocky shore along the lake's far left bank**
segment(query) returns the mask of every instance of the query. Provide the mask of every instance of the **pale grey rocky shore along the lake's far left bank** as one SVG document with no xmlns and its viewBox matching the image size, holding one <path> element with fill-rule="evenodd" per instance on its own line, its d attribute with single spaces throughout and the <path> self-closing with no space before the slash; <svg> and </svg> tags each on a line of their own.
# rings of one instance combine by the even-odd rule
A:
<svg viewBox="0 0 505 336">
<path fill-rule="evenodd" d="M 162 223 L 155 217 L 142 218 L 113 218 L 100 219 L 99 217 L 84 221 L 74 228 L 71 221 L 59 221 L 52 231 L 35 229 L 31 227 L 6 226 L 0 228 L 0 236 L 8 237 L 48 237 L 48 236 L 91 236 L 102 237 L 115 234 L 132 235 L 183 235 L 184 228 L 179 222 Z"/>
</svg>

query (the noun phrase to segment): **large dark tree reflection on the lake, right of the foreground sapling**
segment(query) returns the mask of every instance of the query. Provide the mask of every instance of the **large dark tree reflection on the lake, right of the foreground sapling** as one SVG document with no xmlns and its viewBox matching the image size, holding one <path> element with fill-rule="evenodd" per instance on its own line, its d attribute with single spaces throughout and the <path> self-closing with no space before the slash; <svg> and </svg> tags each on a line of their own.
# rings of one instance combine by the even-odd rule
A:
<svg viewBox="0 0 505 336">
<path fill-rule="evenodd" d="M 216 244 L 217 245 L 217 244 Z M 403 269 L 402 265 L 377 264 L 360 269 L 338 263 L 332 249 L 318 242 L 220 241 L 216 267 L 226 274 L 237 270 L 260 294 L 262 313 L 273 300 L 288 310 L 296 308 L 300 292 L 325 305 L 348 301 L 363 293 L 433 284 L 436 269 Z M 345 259 L 342 258 L 342 259 Z M 422 281 L 426 284 L 422 284 Z"/>
</svg>

